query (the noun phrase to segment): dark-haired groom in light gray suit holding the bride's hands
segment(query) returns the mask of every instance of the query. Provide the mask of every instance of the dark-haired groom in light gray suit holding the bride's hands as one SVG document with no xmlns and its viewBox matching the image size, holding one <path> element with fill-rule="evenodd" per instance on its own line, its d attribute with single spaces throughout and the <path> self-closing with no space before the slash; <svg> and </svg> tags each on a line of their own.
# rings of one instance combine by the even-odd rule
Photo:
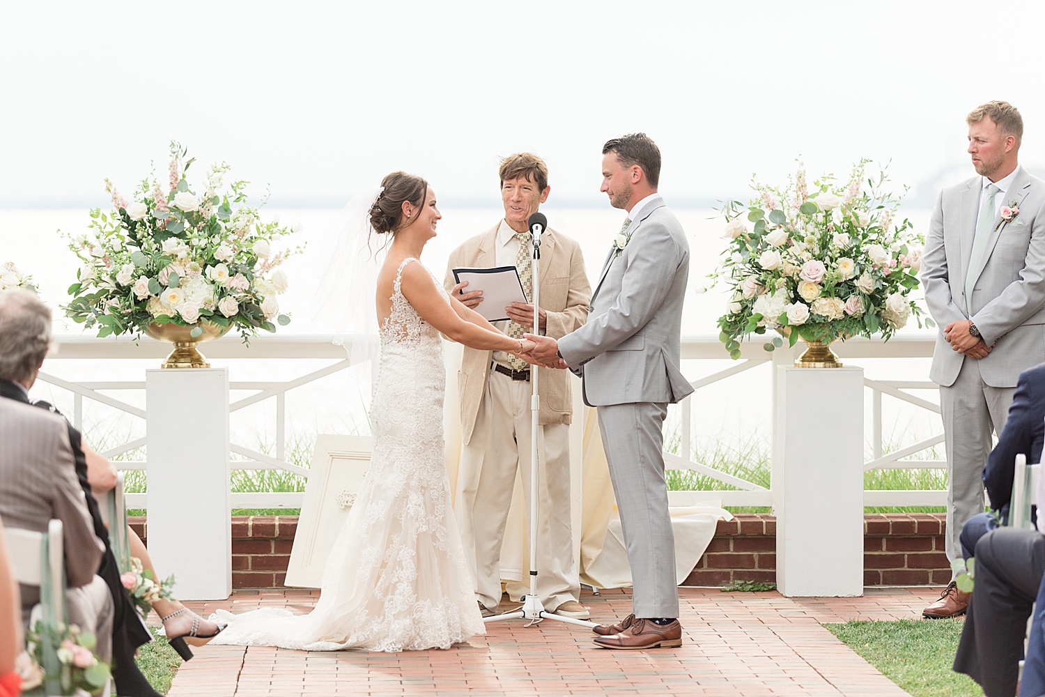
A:
<svg viewBox="0 0 1045 697">
<path fill-rule="evenodd" d="M 660 150 L 644 133 L 603 148 L 602 191 L 628 215 L 603 264 L 583 327 L 536 342 L 534 363 L 583 378 L 599 408 L 602 443 L 621 513 L 634 594 L 632 613 L 595 628 L 604 648 L 681 646 L 675 539 L 664 478 L 668 404 L 693 392 L 678 370 L 690 246 L 657 193 Z"/>
</svg>

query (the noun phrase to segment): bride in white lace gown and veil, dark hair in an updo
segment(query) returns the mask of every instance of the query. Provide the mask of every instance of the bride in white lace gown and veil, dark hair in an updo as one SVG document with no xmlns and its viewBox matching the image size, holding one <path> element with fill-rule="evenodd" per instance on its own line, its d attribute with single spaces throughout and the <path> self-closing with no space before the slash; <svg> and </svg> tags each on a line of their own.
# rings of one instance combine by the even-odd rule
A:
<svg viewBox="0 0 1045 697">
<path fill-rule="evenodd" d="M 421 265 L 421 251 L 442 217 L 427 183 L 396 171 L 381 187 L 376 201 L 367 200 L 373 201 L 370 226 L 392 238 L 376 279 L 380 363 L 370 408 L 370 467 L 330 552 L 316 608 L 306 615 L 219 610 L 230 624 L 211 644 L 397 652 L 445 649 L 485 633 L 450 508 L 439 334 L 516 354 L 534 344 L 497 331 L 447 296 Z M 361 226 L 368 245 L 370 226 Z M 344 242 L 342 250 L 358 255 L 357 245 Z M 357 265 L 345 261 L 345 268 Z M 355 276 L 345 280 L 357 282 Z"/>
</svg>

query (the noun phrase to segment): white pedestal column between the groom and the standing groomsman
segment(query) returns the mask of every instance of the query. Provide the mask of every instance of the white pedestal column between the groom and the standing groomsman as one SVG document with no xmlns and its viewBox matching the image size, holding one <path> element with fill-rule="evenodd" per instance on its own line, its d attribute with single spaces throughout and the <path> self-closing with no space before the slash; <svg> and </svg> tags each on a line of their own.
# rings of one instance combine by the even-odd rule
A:
<svg viewBox="0 0 1045 697">
<path fill-rule="evenodd" d="M 776 370 L 776 587 L 862 596 L 863 369 Z"/>
</svg>

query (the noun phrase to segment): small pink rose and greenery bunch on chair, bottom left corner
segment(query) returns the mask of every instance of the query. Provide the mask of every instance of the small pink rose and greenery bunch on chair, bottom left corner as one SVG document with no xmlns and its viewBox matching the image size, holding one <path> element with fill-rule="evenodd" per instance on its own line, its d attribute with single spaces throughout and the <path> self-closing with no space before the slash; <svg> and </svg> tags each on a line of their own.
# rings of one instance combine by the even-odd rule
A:
<svg viewBox="0 0 1045 697">
<path fill-rule="evenodd" d="M 53 629 L 37 622 L 25 638 L 26 650 L 15 661 L 23 695 L 51 695 L 54 689 L 62 695 L 96 693 L 109 679 L 109 665 L 94 655 L 94 634 L 76 625 Z"/>
</svg>

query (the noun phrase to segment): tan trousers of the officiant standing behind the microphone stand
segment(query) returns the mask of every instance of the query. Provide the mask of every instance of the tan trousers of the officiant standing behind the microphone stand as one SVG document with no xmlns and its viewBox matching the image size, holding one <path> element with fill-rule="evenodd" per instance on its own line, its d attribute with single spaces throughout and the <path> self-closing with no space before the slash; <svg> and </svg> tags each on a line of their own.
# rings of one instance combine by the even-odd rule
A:
<svg viewBox="0 0 1045 697">
<path fill-rule="evenodd" d="M 531 525 L 530 423 L 530 384 L 490 371 L 471 441 L 461 447 L 456 510 L 475 599 L 490 609 L 501 603 L 501 545 L 520 465 Z M 545 424 L 537 437 L 537 596 L 554 611 L 580 599 L 570 515 L 570 425 Z"/>
</svg>

